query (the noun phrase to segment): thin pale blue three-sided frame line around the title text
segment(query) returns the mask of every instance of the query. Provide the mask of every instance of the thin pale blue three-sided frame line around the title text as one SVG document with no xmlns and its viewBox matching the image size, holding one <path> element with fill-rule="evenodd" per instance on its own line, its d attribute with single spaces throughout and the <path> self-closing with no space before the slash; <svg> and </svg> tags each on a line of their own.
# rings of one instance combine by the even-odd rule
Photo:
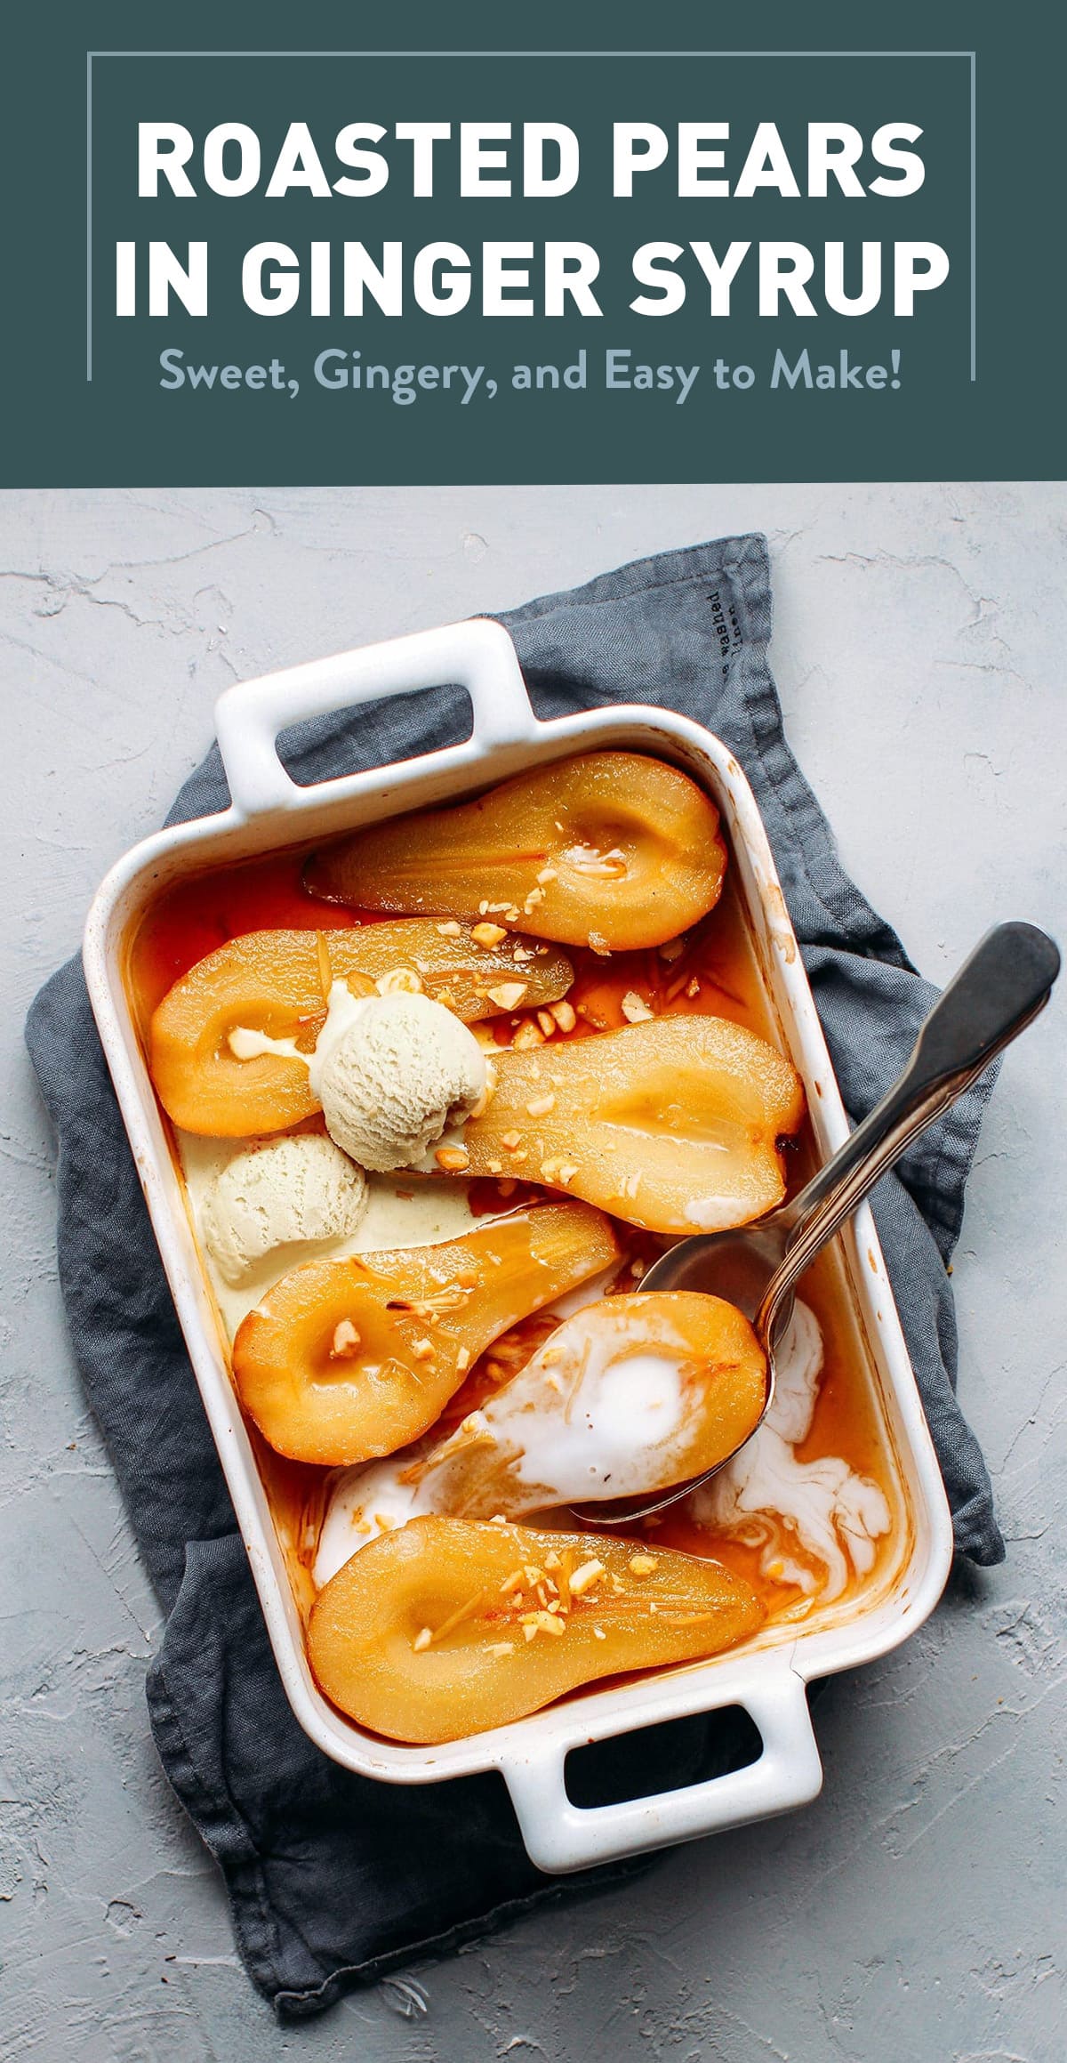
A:
<svg viewBox="0 0 1067 2063">
<path fill-rule="evenodd" d="M 93 58 L 966 58 L 970 64 L 970 380 L 978 380 L 978 52 L 976 50 L 87 50 L 85 54 L 85 378 L 93 380 Z"/>
</svg>

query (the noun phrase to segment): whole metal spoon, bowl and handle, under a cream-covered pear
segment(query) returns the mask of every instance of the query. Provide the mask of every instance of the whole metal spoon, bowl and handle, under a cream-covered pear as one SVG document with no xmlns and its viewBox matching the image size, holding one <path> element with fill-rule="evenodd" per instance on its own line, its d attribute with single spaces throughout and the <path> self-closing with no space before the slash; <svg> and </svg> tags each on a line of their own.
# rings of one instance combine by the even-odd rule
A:
<svg viewBox="0 0 1067 2063">
<path fill-rule="evenodd" d="M 642 1279 L 642 1289 L 702 1289 L 753 1320 L 768 1355 L 768 1395 L 757 1426 L 714 1469 L 654 1498 L 572 1506 L 582 1525 L 662 1512 L 718 1475 L 764 1423 L 774 1397 L 774 1347 L 793 1312 L 793 1287 L 815 1254 L 900 1155 L 984 1073 L 1038 1011 L 1059 974 L 1059 949 L 1034 924 L 997 924 L 974 947 L 929 1013 L 908 1067 L 807 1188 L 753 1225 L 679 1240 Z"/>
</svg>

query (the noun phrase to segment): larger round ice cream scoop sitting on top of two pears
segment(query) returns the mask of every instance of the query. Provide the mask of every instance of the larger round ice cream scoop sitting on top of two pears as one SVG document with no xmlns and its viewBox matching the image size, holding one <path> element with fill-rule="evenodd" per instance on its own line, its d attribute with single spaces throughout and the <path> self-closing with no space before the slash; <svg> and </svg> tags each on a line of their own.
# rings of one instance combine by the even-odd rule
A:
<svg viewBox="0 0 1067 2063">
<path fill-rule="evenodd" d="M 444 1003 L 334 982 L 308 1071 L 326 1131 L 361 1168 L 413 1168 L 485 1091 L 485 1054 Z"/>
</svg>

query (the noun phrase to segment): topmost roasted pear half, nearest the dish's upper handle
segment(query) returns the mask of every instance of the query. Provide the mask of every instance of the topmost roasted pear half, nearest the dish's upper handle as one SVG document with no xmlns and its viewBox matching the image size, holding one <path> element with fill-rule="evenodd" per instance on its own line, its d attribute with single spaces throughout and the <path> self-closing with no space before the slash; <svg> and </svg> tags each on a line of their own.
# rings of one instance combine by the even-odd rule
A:
<svg viewBox="0 0 1067 2063">
<path fill-rule="evenodd" d="M 580 753 L 477 803 L 376 823 L 316 852 L 312 895 L 363 910 L 489 916 L 541 939 L 665 945 L 714 908 L 726 850 L 687 774 L 642 753 Z"/>
</svg>

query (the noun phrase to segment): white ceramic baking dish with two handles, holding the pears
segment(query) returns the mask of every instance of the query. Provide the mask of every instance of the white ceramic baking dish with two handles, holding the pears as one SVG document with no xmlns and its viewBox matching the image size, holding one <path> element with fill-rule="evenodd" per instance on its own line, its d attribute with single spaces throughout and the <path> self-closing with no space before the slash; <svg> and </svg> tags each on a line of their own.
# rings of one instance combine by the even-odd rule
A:
<svg viewBox="0 0 1067 2063">
<path fill-rule="evenodd" d="M 471 699 L 473 730 L 462 745 L 314 788 L 295 786 L 285 772 L 277 753 L 285 726 L 442 685 L 458 685 Z M 772 1021 L 805 1079 L 815 1141 L 828 1155 L 844 1139 L 848 1120 L 741 767 L 718 739 L 667 710 L 607 708 L 539 722 L 514 646 L 491 621 L 454 623 L 231 687 L 219 701 L 217 724 L 231 807 L 159 831 L 111 869 L 89 914 L 85 972 L 277 1665 L 301 1727 L 324 1754 L 384 1782 L 438 1782 L 499 1770 L 528 1855 L 547 1871 L 691 1840 L 807 1803 L 821 1784 L 807 1681 L 867 1663 L 906 1640 L 937 1603 L 951 1560 L 945 1492 L 869 1211 L 856 1215 L 842 1244 L 859 1353 L 867 1362 L 863 1380 L 873 1386 L 890 1471 L 896 1471 L 894 1553 L 881 1558 L 890 1562 L 887 1574 L 883 1570 L 879 1580 L 859 1586 L 836 1607 L 815 1609 L 803 1628 L 772 1626 L 739 1652 L 590 1690 L 442 1747 L 390 1743 L 326 1704 L 310 1675 L 283 1543 L 233 1395 L 124 984 L 140 914 L 163 887 L 192 871 L 460 798 L 576 749 L 658 753 L 702 782 L 722 813 Z M 568 1797 L 563 1764 L 572 1749 L 724 1706 L 743 1706 L 759 1729 L 764 1747 L 749 1768 L 592 1809 Z"/>
</svg>

